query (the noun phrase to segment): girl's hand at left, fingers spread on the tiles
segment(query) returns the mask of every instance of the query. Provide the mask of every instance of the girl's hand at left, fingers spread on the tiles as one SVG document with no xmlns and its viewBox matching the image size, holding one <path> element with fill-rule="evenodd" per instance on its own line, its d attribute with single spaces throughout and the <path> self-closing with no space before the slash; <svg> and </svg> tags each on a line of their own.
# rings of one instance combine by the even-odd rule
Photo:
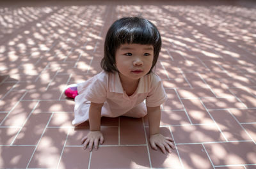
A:
<svg viewBox="0 0 256 169">
<path fill-rule="evenodd" d="M 99 145 L 99 140 L 100 140 L 100 144 L 104 142 L 104 137 L 102 133 L 100 131 L 90 131 L 86 136 L 84 136 L 81 144 L 84 145 L 84 149 L 86 149 L 87 145 L 89 145 L 89 151 L 92 151 L 93 145 L 95 150 L 97 150 Z"/>
</svg>

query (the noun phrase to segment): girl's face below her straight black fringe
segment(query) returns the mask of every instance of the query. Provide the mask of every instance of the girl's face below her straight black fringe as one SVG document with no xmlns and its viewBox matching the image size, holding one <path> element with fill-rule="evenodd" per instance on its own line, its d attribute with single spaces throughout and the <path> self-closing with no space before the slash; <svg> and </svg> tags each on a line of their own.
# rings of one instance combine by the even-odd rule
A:
<svg viewBox="0 0 256 169">
<path fill-rule="evenodd" d="M 136 82 L 150 71 L 154 59 L 154 47 L 126 43 L 116 50 L 115 57 L 121 82 Z"/>
</svg>

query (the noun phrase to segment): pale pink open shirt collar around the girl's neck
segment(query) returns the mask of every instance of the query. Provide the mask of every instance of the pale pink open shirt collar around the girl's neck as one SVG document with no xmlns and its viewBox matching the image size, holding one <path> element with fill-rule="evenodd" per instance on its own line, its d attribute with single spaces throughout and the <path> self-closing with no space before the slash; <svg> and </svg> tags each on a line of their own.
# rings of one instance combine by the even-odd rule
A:
<svg viewBox="0 0 256 169">
<path fill-rule="evenodd" d="M 149 89 L 150 89 L 149 85 L 150 85 L 149 75 L 145 75 L 144 77 L 141 77 L 135 93 L 139 94 L 139 93 L 149 92 Z M 124 93 L 124 89 L 122 87 L 118 72 L 109 73 L 109 91 Z"/>
</svg>

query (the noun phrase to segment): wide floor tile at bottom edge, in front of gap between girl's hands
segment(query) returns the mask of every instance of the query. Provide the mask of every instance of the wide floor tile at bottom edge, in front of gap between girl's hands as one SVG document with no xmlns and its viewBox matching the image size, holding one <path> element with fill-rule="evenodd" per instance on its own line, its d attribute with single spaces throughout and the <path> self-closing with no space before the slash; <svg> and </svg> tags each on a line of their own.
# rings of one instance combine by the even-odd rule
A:
<svg viewBox="0 0 256 169">
<path fill-rule="evenodd" d="M 90 164 L 90 168 L 149 167 L 147 146 L 100 147 L 98 151 L 92 152 L 92 161 Z"/>
</svg>

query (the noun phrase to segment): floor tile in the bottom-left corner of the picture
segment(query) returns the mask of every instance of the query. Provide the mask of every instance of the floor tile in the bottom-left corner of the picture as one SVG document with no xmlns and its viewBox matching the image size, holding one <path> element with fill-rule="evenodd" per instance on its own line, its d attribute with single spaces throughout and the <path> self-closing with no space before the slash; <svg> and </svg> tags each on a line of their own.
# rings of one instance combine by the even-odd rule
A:
<svg viewBox="0 0 256 169">
<path fill-rule="evenodd" d="M 35 147 L 0 146 L 0 168 L 26 168 Z"/>
</svg>

